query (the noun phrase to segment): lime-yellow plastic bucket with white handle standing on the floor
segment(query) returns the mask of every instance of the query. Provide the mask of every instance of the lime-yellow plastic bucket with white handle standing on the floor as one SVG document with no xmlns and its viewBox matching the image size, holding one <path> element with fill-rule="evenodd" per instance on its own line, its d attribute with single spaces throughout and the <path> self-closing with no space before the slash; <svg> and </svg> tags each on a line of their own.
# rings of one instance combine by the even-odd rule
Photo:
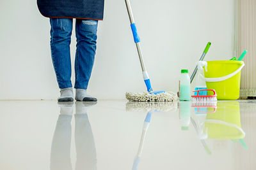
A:
<svg viewBox="0 0 256 170">
<path fill-rule="evenodd" d="M 238 99 L 243 66 L 244 62 L 238 60 L 207 61 L 207 71 L 204 69 L 207 89 L 215 89 L 220 100 Z"/>
</svg>

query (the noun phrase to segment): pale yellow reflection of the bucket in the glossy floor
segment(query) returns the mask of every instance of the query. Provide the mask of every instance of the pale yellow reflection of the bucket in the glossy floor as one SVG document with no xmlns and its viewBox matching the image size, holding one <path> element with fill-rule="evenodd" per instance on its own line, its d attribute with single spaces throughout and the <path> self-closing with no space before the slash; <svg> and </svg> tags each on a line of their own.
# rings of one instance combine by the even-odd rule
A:
<svg viewBox="0 0 256 170">
<path fill-rule="evenodd" d="M 218 102 L 218 110 L 206 116 L 204 133 L 209 139 L 241 139 L 244 131 L 241 129 L 239 103 Z"/>
</svg>

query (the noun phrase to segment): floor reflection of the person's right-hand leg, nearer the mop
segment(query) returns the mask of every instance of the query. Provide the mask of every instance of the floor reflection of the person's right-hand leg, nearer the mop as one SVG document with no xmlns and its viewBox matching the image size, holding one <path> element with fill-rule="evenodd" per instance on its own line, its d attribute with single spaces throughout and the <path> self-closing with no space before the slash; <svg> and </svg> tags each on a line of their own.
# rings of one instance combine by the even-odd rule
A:
<svg viewBox="0 0 256 170">
<path fill-rule="evenodd" d="M 88 107 L 84 106 L 83 103 L 76 103 L 76 170 L 97 169 L 95 143 L 92 127 L 88 120 L 87 108 Z"/>
</svg>

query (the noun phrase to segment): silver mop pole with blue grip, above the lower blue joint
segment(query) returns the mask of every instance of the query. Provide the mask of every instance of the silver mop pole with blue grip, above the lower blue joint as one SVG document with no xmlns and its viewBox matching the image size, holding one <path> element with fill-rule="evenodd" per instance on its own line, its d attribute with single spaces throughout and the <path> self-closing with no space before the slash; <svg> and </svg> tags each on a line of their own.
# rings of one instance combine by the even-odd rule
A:
<svg viewBox="0 0 256 170">
<path fill-rule="evenodd" d="M 144 65 L 144 61 L 143 61 L 143 55 L 141 53 L 141 48 L 140 48 L 140 37 L 139 37 L 138 32 L 137 32 L 136 24 L 134 23 L 134 18 L 133 18 L 133 15 L 132 15 L 132 8 L 131 8 L 130 1 L 125 0 L 125 4 L 126 4 L 126 8 L 127 8 L 127 11 L 128 11 L 129 18 L 130 18 L 130 22 L 131 22 L 131 29 L 132 29 L 132 34 L 133 34 L 133 38 L 134 38 L 134 43 L 136 43 L 138 55 L 139 55 L 139 58 L 140 58 L 141 69 L 142 69 L 143 72 L 145 72 L 146 69 L 145 69 L 145 65 Z"/>
</svg>

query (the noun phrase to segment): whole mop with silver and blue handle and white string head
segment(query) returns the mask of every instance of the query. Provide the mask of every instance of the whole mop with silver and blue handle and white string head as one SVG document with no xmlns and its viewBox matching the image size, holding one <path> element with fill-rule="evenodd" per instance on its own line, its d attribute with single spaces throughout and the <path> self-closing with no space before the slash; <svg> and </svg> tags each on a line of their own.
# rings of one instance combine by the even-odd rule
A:
<svg viewBox="0 0 256 170">
<path fill-rule="evenodd" d="M 125 94 L 125 97 L 129 101 L 138 101 L 138 102 L 170 102 L 170 101 L 175 101 L 177 100 L 177 95 L 174 94 L 173 92 L 165 92 L 165 91 L 153 91 L 150 83 L 150 78 L 148 76 L 147 70 L 144 65 L 143 61 L 143 55 L 141 53 L 141 47 L 140 47 L 140 37 L 138 36 L 137 28 L 134 22 L 134 18 L 132 15 L 132 9 L 131 9 L 131 4 L 129 0 L 125 0 L 126 8 L 128 11 L 129 19 L 131 22 L 131 29 L 132 29 L 132 34 L 134 38 L 134 43 L 136 44 L 136 48 L 138 51 L 139 59 L 140 59 L 140 65 L 142 69 L 142 74 L 143 74 L 143 79 L 145 81 L 145 84 L 147 86 L 147 92 L 141 93 L 131 93 L 127 92 Z"/>
</svg>

